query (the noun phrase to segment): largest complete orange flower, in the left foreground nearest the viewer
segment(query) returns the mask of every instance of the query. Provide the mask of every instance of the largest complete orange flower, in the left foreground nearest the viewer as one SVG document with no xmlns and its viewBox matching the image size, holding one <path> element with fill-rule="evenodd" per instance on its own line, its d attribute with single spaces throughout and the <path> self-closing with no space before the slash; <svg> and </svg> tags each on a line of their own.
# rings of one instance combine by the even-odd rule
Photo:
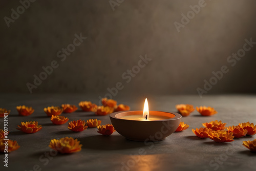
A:
<svg viewBox="0 0 256 171">
<path fill-rule="evenodd" d="M 82 144 L 77 139 L 72 137 L 60 138 L 59 140 L 52 139 L 49 147 L 62 154 L 70 154 L 81 151 Z"/>
</svg>

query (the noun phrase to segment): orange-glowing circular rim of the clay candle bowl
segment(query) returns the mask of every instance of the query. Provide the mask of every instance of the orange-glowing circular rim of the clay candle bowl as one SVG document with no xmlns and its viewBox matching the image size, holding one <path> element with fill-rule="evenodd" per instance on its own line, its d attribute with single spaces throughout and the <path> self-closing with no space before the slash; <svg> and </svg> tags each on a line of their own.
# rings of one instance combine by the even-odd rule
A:
<svg viewBox="0 0 256 171">
<path fill-rule="evenodd" d="M 110 118 L 113 119 L 120 119 L 120 120 L 127 120 L 127 121 L 135 121 L 135 122 L 145 122 L 144 120 L 132 120 L 132 119 L 122 119 L 122 118 L 118 118 L 116 117 L 117 114 L 119 113 L 125 113 L 125 112 L 143 112 L 143 111 L 119 111 L 119 112 L 114 112 L 110 114 Z M 166 111 L 150 111 L 150 112 L 164 112 L 164 113 L 170 113 L 175 115 L 175 117 L 173 118 L 168 118 L 168 119 L 161 119 L 161 120 L 148 120 L 147 122 L 159 122 L 159 121 L 169 121 L 169 120 L 177 120 L 182 118 L 181 114 L 178 114 L 176 112 L 166 112 Z"/>
</svg>

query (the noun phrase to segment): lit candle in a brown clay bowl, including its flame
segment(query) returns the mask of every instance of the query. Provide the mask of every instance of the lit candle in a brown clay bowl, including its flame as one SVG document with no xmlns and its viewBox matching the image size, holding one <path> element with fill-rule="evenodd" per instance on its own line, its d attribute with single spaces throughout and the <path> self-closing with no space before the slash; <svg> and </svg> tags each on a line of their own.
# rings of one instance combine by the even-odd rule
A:
<svg viewBox="0 0 256 171">
<path fill-rule="evenodd" d="M 178 113 L 149 111 L 145 99 L 143 111 L 120 111 L 110 114 L 115 130 L 129 140 L 161 141 L 174 133 L 181 121 Z"/>
</svg>

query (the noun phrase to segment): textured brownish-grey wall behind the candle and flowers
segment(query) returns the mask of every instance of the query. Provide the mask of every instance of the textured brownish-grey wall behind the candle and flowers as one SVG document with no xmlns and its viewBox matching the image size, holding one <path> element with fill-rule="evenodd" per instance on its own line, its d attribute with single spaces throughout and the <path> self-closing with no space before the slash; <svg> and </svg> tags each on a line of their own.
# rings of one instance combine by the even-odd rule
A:
<svg viewBox="0 0 256 171">
<path fill-rule="evenodd" d="M 255 93 L 256 46 L 234 67 L 227 57 L 245 38 L 256 41 L 256 1 L 206 0 L 178 32 L 174 22 L 198 2 L 124 1 L 113 11 L 109 1 L 37 0 L 8 28 L 4 17 L 20 3 L 1 1 L 0 92 L 30 93 L 27 82 L 56 60 L 58 68 L 33 93 L 104 94 L 122 82 L 123 93 L 197 94 L 223 65 L 229 72 L 208 94 Z M 61 61 L 57 52 L 79 33 L 87 39 Z M 145 54 L 152 60 L 126 83 L 122 74 Z"/>
</svg>

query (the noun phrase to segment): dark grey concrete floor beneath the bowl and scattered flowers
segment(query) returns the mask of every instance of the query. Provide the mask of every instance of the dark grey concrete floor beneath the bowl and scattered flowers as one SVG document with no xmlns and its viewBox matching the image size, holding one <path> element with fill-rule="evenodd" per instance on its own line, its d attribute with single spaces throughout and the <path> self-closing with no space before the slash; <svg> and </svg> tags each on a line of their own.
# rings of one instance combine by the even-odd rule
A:
<svg viewBox="0 0 256 171">
<path fill-rule="evenodd" d="M 183 132 L 173 133 L 165 140 L 144 144 L 126 140 L 115 132 L 109 137 L 97 133 L 97 128 L 80 133 L 68 130 L 68 123 L 53 125 L 43 109 L 50 105 L 99 99 L 90 95 L 78 94 L 32 94 L 1 95 L 0 107 L 11 110 L 9 119 L 9 139 L 20 145 L 17 151 L 9 154 L 8 169 L 3 166 L 4 154 L 0 154 L 1 170 L 255 170 L 256 154 L 242 145 L 244 140 L 253 140 L 254 136 L 235 139 L 233 142 L 216 143 L 210 139 L 200 139 L 191 129 L 202 127 L 203 122 L 222 120 L 227 126 L 240 122 L 256 123 L 256 96 L 252 95 L 216 95 L 216 96 L 151 96 L 147 97 L 150 110 L 176 112 L 175 105 L 189 103 L 194 106 L 207 105 L 214 107 L 218 114 L 203 117 L 195 111 L 182 121 L 189 124 Z M 144 97 L 118 96 L 118 103 L 131 106 L 131 110 L 142 110 Z M 27 117 L 18 116 L 17 105 L 29 105 L 35 112 Z M 111 123 L 109 116 L 96 116 L 94 113 L 76 111 L 62 114 L 71 120 L 100 119 L 102 124 Z M 35 134 L 24 134 L 16 130 L 22 121 L 38 121 L 42 130 Z M 3 119 L 0 119 L 3 128 Z M 128 129 L 128 128 L 127 128 Z M 82 146 L 81 152 L 71 155 L 56 155 L 47 158 L 50 152 L 49 142 L 53 138 L 77 138 Z M 139 155 L 143 150 L 144 154 Z"/>
</svg>

